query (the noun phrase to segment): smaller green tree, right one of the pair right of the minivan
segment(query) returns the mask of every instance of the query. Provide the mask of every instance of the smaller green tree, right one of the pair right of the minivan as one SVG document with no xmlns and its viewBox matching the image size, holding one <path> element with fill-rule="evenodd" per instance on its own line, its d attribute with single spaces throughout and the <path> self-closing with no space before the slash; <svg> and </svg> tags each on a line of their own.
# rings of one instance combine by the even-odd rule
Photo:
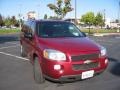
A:
<svg viewBox="0 0 120 90">
<path fill-rule="evenodd" d="M 95 20 L 94 20 L 95 26 L 104 26 L 104 19 L 103 15 L 101 13 L 97 13 Z"/>
</svg>

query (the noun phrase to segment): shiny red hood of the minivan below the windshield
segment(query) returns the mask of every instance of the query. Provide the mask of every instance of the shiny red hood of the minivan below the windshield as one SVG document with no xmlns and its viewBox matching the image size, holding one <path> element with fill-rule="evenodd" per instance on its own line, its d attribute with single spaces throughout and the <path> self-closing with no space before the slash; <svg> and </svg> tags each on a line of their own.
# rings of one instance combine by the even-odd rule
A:
<svg viewBox="0 0 120 90">
<path fill-rule="evenodd" d="M 81 38 L 39 38 L 45 48 L 63 52 L 97 51 L 99 46 L 87 37 Z"/>
</svg>

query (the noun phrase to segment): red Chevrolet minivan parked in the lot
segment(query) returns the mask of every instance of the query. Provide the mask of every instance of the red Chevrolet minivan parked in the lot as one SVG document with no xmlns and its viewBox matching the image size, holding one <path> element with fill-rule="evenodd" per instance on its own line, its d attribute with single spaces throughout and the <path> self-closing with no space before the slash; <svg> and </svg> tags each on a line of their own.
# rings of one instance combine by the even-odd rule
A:
<svg viewBox="0 0 120 90">
<path fill-rule="evenodd" d="M 59 82 L 87 79 L 108 65 L 106 49 L 66 21 L 28 20 L 20 44 L 21 55 L 33 64 L 37 83 L 45 78 Z"/>
</svg>

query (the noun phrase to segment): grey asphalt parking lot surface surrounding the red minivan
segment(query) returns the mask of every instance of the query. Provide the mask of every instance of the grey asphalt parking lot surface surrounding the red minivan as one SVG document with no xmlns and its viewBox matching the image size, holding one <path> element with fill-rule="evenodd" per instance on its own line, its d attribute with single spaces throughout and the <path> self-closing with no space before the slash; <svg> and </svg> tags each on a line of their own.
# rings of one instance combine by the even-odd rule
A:
<svg viewBox="0 0 120 90">
<path fill-rule="evenodd" d="M 36 84 L 32 65 L 20 56 L 19 35 L 0 36 L 0 90 L 120 90 L 120 36 L 90 37 L 107 48 L 109 66 L 91 79 Z"/>
</svg>

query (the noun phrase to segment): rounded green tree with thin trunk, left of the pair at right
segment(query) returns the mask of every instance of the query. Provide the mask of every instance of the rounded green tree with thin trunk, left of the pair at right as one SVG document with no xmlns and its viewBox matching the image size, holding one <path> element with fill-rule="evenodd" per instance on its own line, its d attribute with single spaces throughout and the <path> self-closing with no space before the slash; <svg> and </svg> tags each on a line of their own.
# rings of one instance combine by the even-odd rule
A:
<svg viewBox="0 0 120 90">
<path fill-rule="evenodd" d="M 90 26 L 94 24 L 94 13 L 93 12 L 88 12 L 81 17 L 81 22 L 84 22 L 89 26 L 89 33 L 90 33 Z"/>
</svg>

